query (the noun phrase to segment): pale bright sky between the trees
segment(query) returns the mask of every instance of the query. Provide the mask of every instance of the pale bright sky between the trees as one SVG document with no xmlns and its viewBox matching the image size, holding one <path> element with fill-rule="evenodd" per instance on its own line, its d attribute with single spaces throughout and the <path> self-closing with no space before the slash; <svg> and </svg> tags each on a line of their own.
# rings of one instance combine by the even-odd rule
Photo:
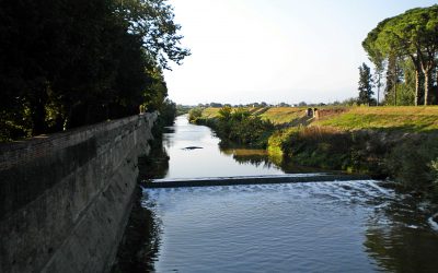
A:
<svg viewBox="0 0 438 273">
<path fill-rule="evenodd" d="M 169 97 L 199 103 L 333 103 L 357 97 L 361 41 L 437 0 L 169 0 L 192 56 L 164 71 Z"/>
</svg>

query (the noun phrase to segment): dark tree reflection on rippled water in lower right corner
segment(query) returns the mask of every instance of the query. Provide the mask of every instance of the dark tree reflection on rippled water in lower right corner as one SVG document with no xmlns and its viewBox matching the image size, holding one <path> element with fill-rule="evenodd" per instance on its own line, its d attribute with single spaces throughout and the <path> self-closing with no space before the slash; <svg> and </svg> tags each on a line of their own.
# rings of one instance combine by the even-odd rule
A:
<svg viewBox="0 0 438 273">
<path fill-rule="evenodd" d="M 377 206 L 368 219 L 365 251 L 388 272 L 437 272 L 437 232 L 427 219 L 436 207 L 405 195 Z"/>
</svg>

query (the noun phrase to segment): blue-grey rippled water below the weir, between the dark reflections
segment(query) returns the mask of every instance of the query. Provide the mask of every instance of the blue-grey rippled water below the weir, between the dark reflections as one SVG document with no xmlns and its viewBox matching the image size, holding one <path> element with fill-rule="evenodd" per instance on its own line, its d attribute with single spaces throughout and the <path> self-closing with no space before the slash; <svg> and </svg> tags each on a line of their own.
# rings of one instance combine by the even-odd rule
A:
<svg viewBox="0 0 438 273">
<path fill-rule="evenodd" d="M 374 271 L 364 251 L 369 201 L 394 198 L 374 181 L 145 192 L 163 224 L 158 272 Z"/>
</svg>

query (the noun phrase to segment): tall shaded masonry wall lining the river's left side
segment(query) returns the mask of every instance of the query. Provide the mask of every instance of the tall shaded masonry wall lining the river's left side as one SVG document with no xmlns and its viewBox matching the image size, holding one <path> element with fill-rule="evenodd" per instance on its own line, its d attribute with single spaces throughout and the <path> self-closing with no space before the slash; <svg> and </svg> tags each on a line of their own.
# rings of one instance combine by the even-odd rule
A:
<svg viewBox="0 0 438 273">
<path fill-rule="evenodd" d="M 0 146 L 0 272 L 106 272 L 157 114 Z"/>
</svg>

